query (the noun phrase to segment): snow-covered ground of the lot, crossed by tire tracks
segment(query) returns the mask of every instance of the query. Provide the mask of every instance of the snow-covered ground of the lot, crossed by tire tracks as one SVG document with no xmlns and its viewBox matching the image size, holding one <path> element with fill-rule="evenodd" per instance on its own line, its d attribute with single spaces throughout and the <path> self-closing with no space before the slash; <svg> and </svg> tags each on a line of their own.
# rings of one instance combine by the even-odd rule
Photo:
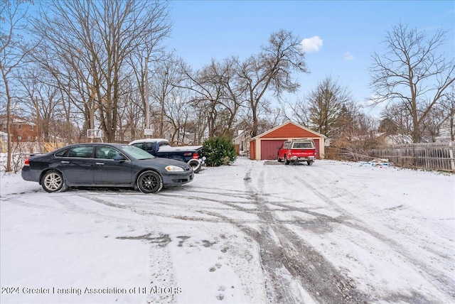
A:
<svg viewBox="0 0 455 304">
<path fill-rule="evenodd" d="M 1 175 L 5 303 L 454 303 L 455 176 L 239 158 L 156 195 Z"/>
</svg>

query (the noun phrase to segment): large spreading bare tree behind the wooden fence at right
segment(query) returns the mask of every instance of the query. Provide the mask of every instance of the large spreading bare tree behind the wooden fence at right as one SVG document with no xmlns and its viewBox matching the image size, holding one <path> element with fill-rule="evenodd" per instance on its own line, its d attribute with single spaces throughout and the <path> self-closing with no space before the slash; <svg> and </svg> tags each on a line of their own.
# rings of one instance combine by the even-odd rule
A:
<svg viewBox="0 0 455 304">
<path fill-rule="evenodd" d="M 410 135 L 414 142 L 421 141 L 424 120 L 455 80 L 453 58 L 447 61 L 439 53 L 445 34 L 439 30 L 427 38 L 425 32 L 400 23 L 387 31 L 387 52 L 372 56 L 370 85 L 378 96 L 375 102 L 403 105 L 412 118 Z"/>
</svg>

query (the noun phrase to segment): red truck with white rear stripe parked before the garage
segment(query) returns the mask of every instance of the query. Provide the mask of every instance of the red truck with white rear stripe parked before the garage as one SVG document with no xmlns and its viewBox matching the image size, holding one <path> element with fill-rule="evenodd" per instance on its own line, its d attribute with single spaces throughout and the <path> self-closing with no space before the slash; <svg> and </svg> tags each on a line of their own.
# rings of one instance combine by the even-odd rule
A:
<svg viewBox="0 0 455 304">
<path fill-rule="evenodd" d="M 294 139 L 284 141 L 281 148 L 278 149 L 279 162 L 284 161 L 284 165 L 290 162 L 304 162 L 312 165 L 316 159 L 316 146 L 313 139 Z"/>
</svg>

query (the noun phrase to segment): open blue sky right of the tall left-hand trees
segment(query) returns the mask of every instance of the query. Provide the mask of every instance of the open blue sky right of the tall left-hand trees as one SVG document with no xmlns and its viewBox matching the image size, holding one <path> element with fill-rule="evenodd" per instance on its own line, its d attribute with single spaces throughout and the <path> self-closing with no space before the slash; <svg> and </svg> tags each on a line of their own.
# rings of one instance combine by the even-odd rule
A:
<svg viewBox="0 0 455 304">
<path fill-rule="evenodd" d="M 170 7 L 173 31 L 166 44 L 195 69 L 212 58 L 257 54 L 280 29 L 301 39 L 319 37 L 319 49 L 306 52 L 311 73 L 299 77 L 300 92 L 287 96 L 290 102 L 328 75 L 365 102 L 372 94 L 371 55 L 384 53 L 386 32 L 400 22 L 428 36 L 443 28 L 444 52 L 448 58 L 455 53 L 455 1 L 171 1 Z"/>
</svg>

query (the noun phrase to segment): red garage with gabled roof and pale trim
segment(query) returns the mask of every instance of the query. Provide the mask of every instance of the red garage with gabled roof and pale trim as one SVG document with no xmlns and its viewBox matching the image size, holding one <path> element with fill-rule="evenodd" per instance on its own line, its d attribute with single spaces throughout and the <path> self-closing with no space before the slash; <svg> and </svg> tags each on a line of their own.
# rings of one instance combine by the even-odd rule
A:
<svg viewBox="0 0 455 304">
<path fill-rule="evenodd" d="M 316 158 L 323 158 L 326 136 L 291 121 L 253 137 L 250 141 L 250 158 L 257 161 L 277 159 L 277 150 L 284 141 L 303 138 L 313 139 Z"/>
</svg>

